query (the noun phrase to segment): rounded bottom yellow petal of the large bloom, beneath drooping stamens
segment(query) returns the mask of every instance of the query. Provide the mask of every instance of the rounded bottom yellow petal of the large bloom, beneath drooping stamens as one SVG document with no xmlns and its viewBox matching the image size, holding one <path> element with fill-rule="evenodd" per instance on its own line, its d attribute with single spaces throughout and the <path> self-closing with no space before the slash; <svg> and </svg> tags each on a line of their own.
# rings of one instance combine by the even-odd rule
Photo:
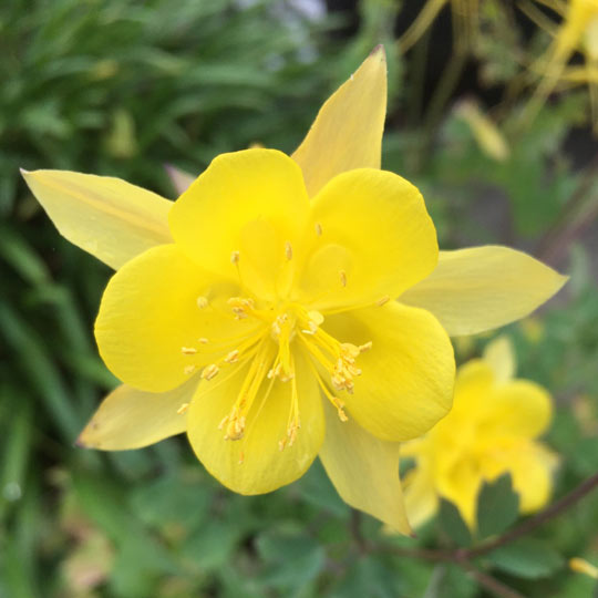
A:
<svg viewBox="0 0 598 598">
<path fill-rule="evenodd" d="M 262 494 L 290 484 L 309 468 L 323 442 L 324 421 L 316 379 L 301 354 L 296 358 L 296 378 L 275 379 L 268 393 L 265 380 L 247 415 L 245 435 L 224 440 L 218 426 L 237 400 L 247 373 L 202 382 L 187 416 L 189 442 L 206 470 L 225 486 L 240 494 Z M 297 384 L 301 427 L 292 445 L 279 450 L 287 436 L 292 384 Z"/>
</svg>

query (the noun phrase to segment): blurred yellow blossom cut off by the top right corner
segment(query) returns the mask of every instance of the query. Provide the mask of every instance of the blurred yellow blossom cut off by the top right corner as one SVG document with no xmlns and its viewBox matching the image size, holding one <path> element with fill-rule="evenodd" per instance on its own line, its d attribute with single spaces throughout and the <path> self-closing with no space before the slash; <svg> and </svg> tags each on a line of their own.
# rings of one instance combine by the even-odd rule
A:
<svg viewBox="0 0 598 598">
<path fill-rule="evenodd" d="M 532 101 L 539 105 L 557 87 L 587 84 L 594 128 L 598 132 L 598 0 L 536 1 L 551 8 L 563 21 L 554 28 L 546 19 L 537 19 L 554 39 L 532 66 L 534 76 L 539 78 Z M 576 52 L 584 56 L 584 65 L 569 65 Z"/>
</svg>

